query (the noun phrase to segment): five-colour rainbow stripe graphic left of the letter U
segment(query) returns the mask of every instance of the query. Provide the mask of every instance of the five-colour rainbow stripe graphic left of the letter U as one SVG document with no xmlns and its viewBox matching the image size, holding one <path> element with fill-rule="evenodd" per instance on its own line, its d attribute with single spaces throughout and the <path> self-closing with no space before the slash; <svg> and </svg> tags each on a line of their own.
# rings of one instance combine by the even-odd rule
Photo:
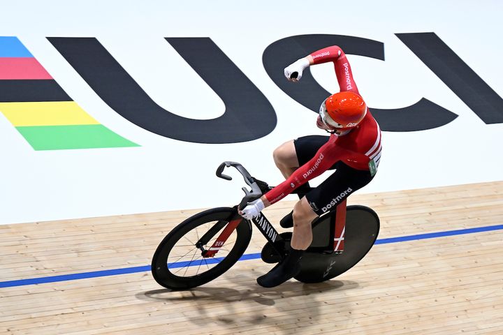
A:
<svg viewBox="0 0 503 335">
<path fill-rule="evenodd" d="M 0 36 L 0 112 L 35 150 L 138 147 L 82 110 L 15 36 Z"/>
</svg>

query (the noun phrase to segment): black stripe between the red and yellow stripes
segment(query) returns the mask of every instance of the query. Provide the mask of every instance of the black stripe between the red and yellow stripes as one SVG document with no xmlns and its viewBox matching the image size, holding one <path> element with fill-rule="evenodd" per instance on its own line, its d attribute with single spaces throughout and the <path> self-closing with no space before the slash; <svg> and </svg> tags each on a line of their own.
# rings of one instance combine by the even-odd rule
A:
<svg viewBox="0 0 503 335">
<path fill-rule="evenodd" d="M 72 101 L 53 80 L 0 80 L 0 102 Z"/>
</svg>

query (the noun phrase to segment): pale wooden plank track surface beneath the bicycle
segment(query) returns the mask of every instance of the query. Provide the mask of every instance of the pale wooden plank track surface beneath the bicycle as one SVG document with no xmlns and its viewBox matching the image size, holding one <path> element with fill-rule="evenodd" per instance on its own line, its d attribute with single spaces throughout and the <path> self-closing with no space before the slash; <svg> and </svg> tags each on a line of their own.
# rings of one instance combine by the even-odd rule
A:
<svg viewBox="0 0 503 335">
<path fill-rule="evenodd" d="M 290 211 L 265 210 L 272 222 Z M 503 181 L 352 195 L 379 239 L 503 224 Z M 150 265 L 191 211 L 0 225 L 0 281 Z M 279 225 L 278 225 L 279 226 Z M 281 229 L 281 228 L 280 228 Z M 258 253 L 258 231 L 246 253 Z M 170 292 L 149 271 L 0 288 L 0 334 L 503 334 L 503 230 L 378 244 L 319 284 L 265 289 L 261 260 Z"/>
</svg>

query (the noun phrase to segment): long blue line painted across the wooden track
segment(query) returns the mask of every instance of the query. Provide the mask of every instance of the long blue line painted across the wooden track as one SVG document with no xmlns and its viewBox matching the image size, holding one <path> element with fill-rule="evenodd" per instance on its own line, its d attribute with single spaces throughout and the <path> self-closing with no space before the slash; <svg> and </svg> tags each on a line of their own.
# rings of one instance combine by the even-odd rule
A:
<svg viewBox="0 0 503 335">
<path fill-rule="evenodd" d="M 398 243 L 404 241 L 415 241 L 418 239 L 435 239 L 437 237 L 447 237 L 447 236 L 455 236 L 462 234 L 473 234 L 476 232 L 491 232 L 493 230 L 503 230 L 503 225 L 490 225 L 488 227 L 479 227 L 479 228 L 468 228 L 468 229 L 460 229 L 460 230 L 450 230 L 447 232 L 430 232 L 428 234 L 417 234 L 417 235 L 409 235 L 402 237 L 391 237 L 389 239 L 378 239 L 375 244 L 388 244 L 388 243 Z M 261 258 L 260 253 L 249 253 L 246 255 L 242 255 L 240 260 L 256 260 Z M 207 264 L 215 264 L 221 262 L 223 258 L 210 258 L 205 260 Z M 204 261 L 191 261 L 191 262 L 175 262 L 170 263 L 168 267 L 171 269 L 177 267 L 186 267 L 188 266 L 199 266 Z M 95 278 L 95 277 L 104 277 L 104 276 L 115 276 L 117 274 L 134 274 L 136 272 L 145 272 L 150 271 L 150 265 L 145 265 L 143 267 L 124 267 L 122 269 L 111 269 L 111 270 L 103 270 L 103 271 L 91 271 L 91 272 L 82 272 L 80 274 L 63 274 L 61 276 L 49 276 L 49 277 L 41 277 L 41 278 L 29 278 L 29 279 L 20 279 L 18 281 L 0 281 L 0 288 L 10 288 L 13 286 L 22 286 L 22 285 L 33 285 L 33 284 L 43 284 L 43 283 L 56 283 L 58 281 L 73 281 L 75 279 L 85 279 L 85 278 Z"/>
</svg>

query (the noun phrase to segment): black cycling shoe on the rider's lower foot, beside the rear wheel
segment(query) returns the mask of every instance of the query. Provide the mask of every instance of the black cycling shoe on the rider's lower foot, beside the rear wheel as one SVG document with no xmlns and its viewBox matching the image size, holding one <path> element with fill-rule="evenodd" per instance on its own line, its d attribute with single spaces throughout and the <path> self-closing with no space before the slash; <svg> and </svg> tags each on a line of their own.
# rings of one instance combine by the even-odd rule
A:
<svg viewBox="0 0 503 335">
<path fill-rule="evenodd" d="M 258 285 L 263 288 L 274 288 L 297 276 L 300 272 L 300 259 L 303 254 L 303 250 L 291 249 L 282 262 L 279 262 L 267 274 L 257 278 Z"/>
</svg>

